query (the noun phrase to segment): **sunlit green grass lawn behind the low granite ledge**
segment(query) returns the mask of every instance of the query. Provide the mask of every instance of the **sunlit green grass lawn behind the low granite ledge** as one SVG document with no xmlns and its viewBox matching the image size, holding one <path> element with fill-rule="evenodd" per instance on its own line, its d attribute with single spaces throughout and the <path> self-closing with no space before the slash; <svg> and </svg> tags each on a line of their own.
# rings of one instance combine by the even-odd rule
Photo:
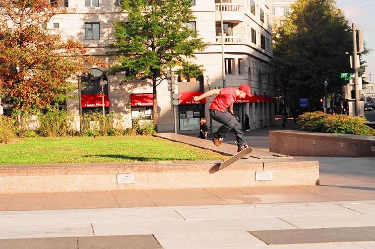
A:
<svg viewBox="0 0 375 249">
<path fill-rule="evenodd" d="M 0 164 L 221 160 L 226 156 L 153 136 L 36 137 L 0 145 Z"/>
</svg>

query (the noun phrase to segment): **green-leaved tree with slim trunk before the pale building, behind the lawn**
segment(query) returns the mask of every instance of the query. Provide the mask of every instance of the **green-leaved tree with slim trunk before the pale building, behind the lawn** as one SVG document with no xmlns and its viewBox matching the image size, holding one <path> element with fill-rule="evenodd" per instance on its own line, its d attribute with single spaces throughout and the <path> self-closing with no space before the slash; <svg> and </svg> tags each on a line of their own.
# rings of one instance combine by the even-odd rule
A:
<svg viewBox="0 0 375 249">
<path fill-rule="evenodd" d="M 121 0 L 127 22 L 114 23 L 116 41 L 110 54 L 117 55 L 110 74 L 126 71 L 125 80 L 149 79 L 153 85 L 153 116 L 158 124 L 157 86 L 176 66 L 191 76 L 202 74 L 202 66 L 188 62 L 206 44 L 196 30 L 187 27 L 194 20 L 191 0 Z"/>
</svg>

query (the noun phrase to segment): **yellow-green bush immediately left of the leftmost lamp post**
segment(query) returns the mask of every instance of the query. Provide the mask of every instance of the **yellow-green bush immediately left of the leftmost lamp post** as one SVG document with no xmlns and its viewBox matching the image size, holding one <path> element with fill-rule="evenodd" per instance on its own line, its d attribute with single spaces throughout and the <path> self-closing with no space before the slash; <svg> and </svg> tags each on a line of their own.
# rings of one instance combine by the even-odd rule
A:
<svg viewBox="0 0 375 249">
<path fill-rule="evenodd" d="M 69 127 L 72 124 L 73 116 L 67 114 L 66 110 L 58 110 L 58 108 L 47 107 L 45 113 L 40 113 L 39 118 L 39 134 L 42 136 L 66 136 L 73 132 Z"/>
</svg>

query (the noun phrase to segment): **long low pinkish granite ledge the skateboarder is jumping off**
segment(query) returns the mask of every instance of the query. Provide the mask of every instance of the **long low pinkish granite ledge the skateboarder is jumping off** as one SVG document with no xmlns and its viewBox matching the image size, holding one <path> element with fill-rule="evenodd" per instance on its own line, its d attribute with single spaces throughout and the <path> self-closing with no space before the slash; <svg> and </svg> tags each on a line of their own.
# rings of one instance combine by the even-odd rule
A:
<svg viewBox="0 0 375 249">
<path fill-rule="evenodd" d="M 0 194 L 319 184 L 319 162 L 240 160 L 218 171 L 220 161 L 138 162 L 75 165 L 0 166 Z M 257 172 L 272 179 L 257 181 Z M 118 184 L 118 174 L 134 183 Z"/>
</svg>

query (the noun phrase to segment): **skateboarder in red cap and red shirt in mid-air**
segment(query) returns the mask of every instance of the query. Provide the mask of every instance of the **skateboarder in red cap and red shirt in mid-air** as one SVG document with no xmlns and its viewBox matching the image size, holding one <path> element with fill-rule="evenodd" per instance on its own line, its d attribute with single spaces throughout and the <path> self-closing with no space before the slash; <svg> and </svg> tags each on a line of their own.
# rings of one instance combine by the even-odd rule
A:
<svg viewBox="0 0 375 249">
<path fill-rule="evenodd" d="M 212 89 L 200 96 L 194 96 L 194 101 L 200 101 L 203 98 L 209 97 L 216 94 L 214 101 L 210 107 L 210 116 L 214 121 L 217 121 L 220 126 L 214 133 L 213 142 L 214 145 L 221 148 L 221 142 L 224 137 L 228 134 L 231 129 L 234 129 L 234 134 L 237 138 L 237 151 L 249 147 L 245 141 L 244 133 L 241 129 L 241 124 L 233 116 L 233 103 L 236 101 L 237 97 L 245 98 L 246 95 L 251 97 L 251 88 L 246 84 L 240 85 L 238 89 L 226 87 L 221 89 Z M 229 110 L 228 110 L 229 107 Z"/>
</svg>

